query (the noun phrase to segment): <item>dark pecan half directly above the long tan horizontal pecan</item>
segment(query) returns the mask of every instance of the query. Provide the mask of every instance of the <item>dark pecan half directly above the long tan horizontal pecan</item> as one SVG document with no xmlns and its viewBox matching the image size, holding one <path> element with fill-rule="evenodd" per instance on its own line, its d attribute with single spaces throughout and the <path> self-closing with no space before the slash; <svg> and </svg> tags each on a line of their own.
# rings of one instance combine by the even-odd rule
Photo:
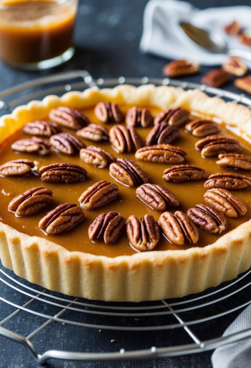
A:
<svg viewBox="0 0 251 368">
<path fill-rule="evenodd" d="M 180 137 L 177 127 L 168 125 L 166 121 L 162 121 L 155 125 L 148 133 L 145 144 L 151 146 L 153 144 L 171 144 Z"/>
</svg>

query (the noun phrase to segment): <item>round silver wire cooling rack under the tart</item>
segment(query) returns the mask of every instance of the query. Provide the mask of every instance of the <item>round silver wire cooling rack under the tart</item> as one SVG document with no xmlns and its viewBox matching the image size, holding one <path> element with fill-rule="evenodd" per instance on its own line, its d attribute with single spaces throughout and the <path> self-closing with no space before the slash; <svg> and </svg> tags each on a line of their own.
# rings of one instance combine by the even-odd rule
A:
<svg viewBox="0 0 251 368">
<path fill-rule="evenodd" d="M 71 89 L 81 91 L 90 86 L 102 88 L 123 83 L 136 86 L 153 83 L 181 86 L 184 89 L 199 88 L 210 96 L 218 96 L 251 107 L 251 99 L 245 95 L 206 85 L 168 78 L 148 79 L 146 77 L 120 77 L 106 80 L 100 78 L 93 81 L 88 72 L 78 70 L 38 78 L 3 91 L 0 93 L 0 115 L 9 113 L 14 107 L 30 100 L 42 99 L 48 94 L 62 95 Z M 113 361 L 170 357 L 212 350 L 251 336 L 251 330 L 243 330 L 225 337 L 217 336 L 216 331 L 216 337 L 206 340 L 205 333 L 202 333 L 205 323 L 215 323 L 216 319 L 220 320 L 228 314 L 234 314 L 250 303 L 251 269 L 230 282 L 207 289 L 200 294 L 168 301 L 141 303 L 108 303 L 65 296 L 21 279 L 11 270 L 4 268 L 1 262 L 0 283 L 4 290 L 3 295 L 8 296 L 6 298 L 0 296 L 0 308 L 8 304 L 8 310 L 13 309 L 10 315 L 0 321 L 0 335 L 23 344 L 34 360 L 40 364 L 44 364 L 50 358 Z M 21 331 L 24 315 L 32 319 L 32 325 L 35 326 L 28 335 Z M 53 336 L 57 326 L 61 324 L 69 330 L 69 333 L 64 334 L 69 336 L 65 350 L 57 350 L 57 346 L 53 346 Z M 46 342 L 39 339 L 39 333 L 43 329 L 47 329 L 50 336 L 49 349 Z M 179 333 L 176 334 L 175 339 L 164 341 L 161 346 L 152 346 L 151 339 L 149 339 L 149 346 L 146 346 L 146 341 L 143 341 L 138 350 L 127 350 L 126 346 L 117 349 L 115 346 L 110 351 L 90 352 L 84 347 L 82 351 L 75 351 L 74 339 L 70 339 L 70 336 L 77 338 L 79 333 L 98 330 L 129 333 L 130 339 L 136 335 L 138 337 L 140 333 L 147 334 L 156 330 L 159 333 Z M 43 353 L 39 354 L 38 349 Z"/>
</svg>

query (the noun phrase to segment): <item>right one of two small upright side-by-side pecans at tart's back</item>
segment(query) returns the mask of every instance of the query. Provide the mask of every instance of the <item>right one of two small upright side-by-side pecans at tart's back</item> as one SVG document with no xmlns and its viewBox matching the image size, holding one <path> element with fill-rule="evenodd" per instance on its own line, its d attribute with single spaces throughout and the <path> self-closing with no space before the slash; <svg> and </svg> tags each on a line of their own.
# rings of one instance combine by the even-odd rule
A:
<svg viewBox="0 0 251 368">
<path fill-rule="evenodd" d="M 136 106 L 127 111 L 125 115 L 125 124 L 127 128 L 142 127 L 148 128 L 153 122 L 153 117 L 148 109 L 137 109 Z"/>
</svg>

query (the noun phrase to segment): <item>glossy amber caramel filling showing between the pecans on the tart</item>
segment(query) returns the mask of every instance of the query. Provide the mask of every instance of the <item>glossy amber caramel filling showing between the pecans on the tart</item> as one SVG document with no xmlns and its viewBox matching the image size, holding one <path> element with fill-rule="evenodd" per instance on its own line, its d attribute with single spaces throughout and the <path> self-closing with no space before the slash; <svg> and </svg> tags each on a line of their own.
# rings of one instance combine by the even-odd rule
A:
<svg viewBox="0 0 251 368">
<path fill-rule="evenodd" d="M 126 113 L 131 106 L 120 106 L 123 113 Z M 151 112 L 153 116 L 156 116 L 161 110 L 158 108 L 152 108 Z M 93 114 L 93 107 L 89 109 L 82 110 L 86 116 L 89 117 L 92 123 L 99 123 L 97 118 Z M 112 124 L 106 124 L 107 128 L 111 128 Z M 143 139 L 145 139 L 146 135 L 150 131 L 150 128 L 137 128 L 139 135 Z M 63 128 L 64 131 L 71 132 L 71 134 L 75 134 L 72 130 L 67 130 Z M 195 138 L 191 135 L 191 133 L 185 132 L 184 126 L 180 129 L 180 138 L 177 139 L 173 143 L 173 145 L 180 146 L 187 152 L 187 156 L 185 158 L 185 164 L 193 164 L 195 166 L 199 166 L 203 168 L 208 175 L 212 173 L 223 173 L 223 172 L 237 172 L 239 174 L 251 176 L 250 171 L 245 170 L 226 170 L 220 169 L 215 161 L 217 157 L 213 158 L 202 158 L 200 151 L 196 151 L 194 149 L 195 142 L 198 141 L 198 138 Z M 228 136 L 234 136 L 230 131 L 226 130 L 221 124 L 221 134 L 226 134 Z M 27 158 L 33 159 L 37 170 L 43 166 L 50 163 L 55 162 L 71 162 L 76 163 L 84 167 L 88 173 L 88 177 L 84 182 L 76 183 L 76 184 L 53 184 L 53 183 L 44 183 L 40 180 L 39 176 L 35 174 L 31 174 L 29 176 L 23 177 L 0 177 L 0 220 L 3 223 L 6 223 L 16 230 L 26 233 L 30 236 L 40 236 L 46 237 L 48 240 L 53 241 L 54 243 L 60 244 L 66 249 L 70 251 L 82 251 L 87 253 L 92 253 L 95 255 L 106 255 L 109 257 L 119 256 L 119 255 L 131 255 L 135 253 L 135 250 L 132 249 L 128 243 L 128 239 L 126 234 L 124 233 L 120 236 L 113 244 L 104 244 L 98 241 L 90 241 L 88 239 L 87 230 L 89 225 L 93 222 L 96 216 L 98 216 L 101 212 L 109 212 L 110 210 L 117 210 L 127 219 L 130 215 L 135 215 L 138 218 L 143 217 L 146 213 L 151 213 L 155 219 L 158 221 L 161 212 L 157 212 L 152 210 L 143 202 L 141 202 L 135 195 L 136 187 L 128 188 L 120 183 L 116 183 L 116 181 L 110 177 L 109 169 L 99 169 L 98 167 L 93 167 L 84 163 L 79 159 L 79 155 L 64 155 L 63 153 L 57 153 L 51 151 L 47 156 L 39 156 L 37 154 L 24 154 L 24 153 L 15 153 L 11 150 L 11 143 L 17 139 L 27 138 L 28 135 L 24 135 L 21 132 L 16 134 L 14 137 L 8 139 L 8 141 L 4 142 L 4 144 L 0 147 L 0 165 L 13 159 L 19 158 Z M 79 137 L 78 137 L 79 138 Z M 80 138 L 81 139 L 81 138 Z M 251 146 L 245 142 L 243 139 L 238 138 L 243 146 L 242 153 L 245 155 L 251 156 Z M 102 142 L 92 142 L 87 139 L 83 139 L 86 146 L 94 144 L 96 146 L 100 146 L 106 151 L 113 153 L 116 157 L 124 157 L 127 159 L 135 160 L 134 153 L 124 153 L 117 154 L 110 146 L 109 141 Z M 160 184 L 164 187 L 167 187 L 170 191 L 172 191 L 178 198 L 180 202 L 180 206 L 176 209 L 171 210 L 174 212 L 179 209 L 186 213 L 187 209 L 190 207 L 194 207 L 198 203 L 205 204 L 203 199 L 203 194 L 206 191 L 204 188 L 204 181 L 195 181 L 191 183 L 166 183 L 162 179 L 163 171 L 167 167 L 171 167 L 172 165 L 167 164 L 158 164 L 158 163 L 146 163 L 135 160 L 142 167 L 145 173 L 149 177 L 149 183 Z M 82 223 L 75 226 L 73 229 L 66 231 L 65 233 L 58 234 L 55 236 L 45 235 L 41 230 L 38 229 L 39 220 L 51 209 L 55 208 L 60 203 L 64 202 L 72 202 L 78 203 L 78 198 L 90 185 L 96 183 L 99 180 L 108 180 L 112 183 L 116 183 L 119 186 L 119 195 L 117 198 L 108 204 L 95 209 L 95 210 L 84 210 L 85 219 Z M 43 185 L 46 188 L 50 188 L 53 191 L 53 201 L 51 204 L 44 210 L 41 210 L 39 213 L 28 216 L 28 217 L 15 217 L 15 215 L 11 212 L 8 212 L 8 204 L 15 196 L 18 194 L 28 190 L 29 188 Z M 244 204 L 247 206 L 248 211 L 246 215 L 239 216 L 237 218 L 230 219 L 227 217 L 227 231 L 234 229 L 241 223 L 250 219 L 251 214 L 251 188 L 248 187 L 244 190 L 232 191 L 234 195 L 236 195 Z M 227 232 L 225 231 L 225 233 Z M 224 233 L 223 233 L 224 234 Z M 223 235 L 222 234 L 222 235 Z M 203 247 L 205 245 L 214 243 L 219 236 L 212 235 L 209 233 L 205 233 L 203 230 L 199 229 L 199 241 L 196 246 Z M 178 245 L 170 244 L 169 241 L 166 240 L 164 236 L 161 236 L 160 242 L 154 250 L 167 250 L 167 249 L 187 249 L 192 245 L 184 245 L 180 247 Z"/>
</svg>

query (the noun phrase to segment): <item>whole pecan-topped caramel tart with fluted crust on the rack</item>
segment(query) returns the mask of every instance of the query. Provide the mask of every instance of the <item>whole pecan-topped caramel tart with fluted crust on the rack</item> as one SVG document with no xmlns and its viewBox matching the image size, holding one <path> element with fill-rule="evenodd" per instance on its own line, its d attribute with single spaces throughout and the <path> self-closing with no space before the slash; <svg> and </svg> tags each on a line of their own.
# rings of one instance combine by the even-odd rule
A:
<svg viewBox="0 0 251 368">
<path fill-rule="evenodd" d="M 250 141 L 251 111 L 199 90 L 122 85 L 17 107 L 0 118 L 1 262 L 105 301 L 231 280 L 251 266 Z"/>
</svg>

